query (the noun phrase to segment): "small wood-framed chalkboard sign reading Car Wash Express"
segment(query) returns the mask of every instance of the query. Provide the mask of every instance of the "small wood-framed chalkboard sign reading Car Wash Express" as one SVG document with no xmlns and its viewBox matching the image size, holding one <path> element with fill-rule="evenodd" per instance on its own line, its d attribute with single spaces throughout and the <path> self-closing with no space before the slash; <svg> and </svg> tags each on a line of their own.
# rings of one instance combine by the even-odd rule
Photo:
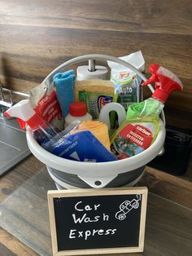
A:
<svg viewBox="0 0 192 256">
<path fill-rule="evenodd" d="M 54 255 L 142 252 L 147 188 L 48 192 Z"/>
</svg>

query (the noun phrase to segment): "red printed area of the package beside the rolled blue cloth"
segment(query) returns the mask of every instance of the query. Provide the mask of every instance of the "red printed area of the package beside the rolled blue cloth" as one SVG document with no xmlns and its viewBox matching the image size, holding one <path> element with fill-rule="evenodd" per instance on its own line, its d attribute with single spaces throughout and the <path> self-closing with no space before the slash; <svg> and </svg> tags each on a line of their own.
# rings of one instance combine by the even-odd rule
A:
<svg viewBox="0 0 192 256">
<path fill-rule="evenodd" d="M 55 117 L 62 118 L 55 90 L 50 95 L 44 95 L 38 102 L 34 110 L 46 121 L 51 122 Z"/>
</svg>

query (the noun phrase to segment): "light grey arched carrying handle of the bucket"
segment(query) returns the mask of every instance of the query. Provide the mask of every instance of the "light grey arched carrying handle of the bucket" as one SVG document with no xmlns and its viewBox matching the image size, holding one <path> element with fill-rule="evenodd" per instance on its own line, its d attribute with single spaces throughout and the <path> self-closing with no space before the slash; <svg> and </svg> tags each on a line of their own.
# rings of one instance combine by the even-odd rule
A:
<svg viewBox="0 0 192 256">
<path fill-rule="evenodd" d="M 55 73 L 59 73 L 59 72 L 63 72 L 66 68 L 77 64 L 79 62 L 82 61 L 88 61 L 88 60 L 110 60 L 112 62 L 124 65 L 125 67 L 128 67 L 129 69 L 133 70 L 134 73 L 137 74 L 137 76 L 141 77 L 142 80 L 144 82 L 146 82 L 147 78 L 143 75 L 142 72 L 140 72 L 137 68 L 133 67 L 132 64 L 129 64 L 128 62 L 125 62 L 124 60 L 120 60 L 117 57 L 111 56 L 111 55 L 100 55 L 100 54 L 92 54 L 92 55 L 81 55 L 78 56 L 76 58 L 73 58 L 71 60 L 68 60 L 66 62 L 64 62 L 63 64 L 59 65 L 59 67 L 55 68 L 45 79 L 43 82 L 47 82 L 50 79 L 53 79 Z M 154 92 L 154 88 L 153 86 L 151 86 L 151 84 L 148 85 L 148 87 L 150 88 L 151 92 Z M 165 117 L 164 117 L 164 111 L 162 110 L 161 112 L 161 119 L 162 121 L 164 121 L 164 125 L 165 125 Z"/>
</svg>

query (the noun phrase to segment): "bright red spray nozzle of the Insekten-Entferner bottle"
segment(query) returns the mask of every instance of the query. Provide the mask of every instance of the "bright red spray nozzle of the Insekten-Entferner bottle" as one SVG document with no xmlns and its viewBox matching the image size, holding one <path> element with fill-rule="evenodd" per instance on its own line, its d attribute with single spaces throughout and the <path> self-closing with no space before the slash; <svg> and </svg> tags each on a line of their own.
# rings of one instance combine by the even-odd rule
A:
<svg viewBox="0 0 192 256">
<path fill-rule="evenodd" d="M 155 92 L 152 98 L 158 99 L 162 103 L 165 103 L 168 99 L 168 95 L 172 90 L 182 90 L 183 85 L 181 80 L 168 69 L 159 66 L 158 64 L 150 65 L 150 72 L 152 76 L 142 83 L 142 86 L 146 86 L 151 82 L 155 82 Z"/>
</svg>

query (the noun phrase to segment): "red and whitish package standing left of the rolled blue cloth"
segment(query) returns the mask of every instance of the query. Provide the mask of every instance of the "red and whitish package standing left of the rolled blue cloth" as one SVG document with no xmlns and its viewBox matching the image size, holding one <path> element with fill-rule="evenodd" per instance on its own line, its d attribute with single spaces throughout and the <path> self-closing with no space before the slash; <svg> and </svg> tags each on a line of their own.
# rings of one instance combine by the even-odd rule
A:
<svg viewBox="0 0 192 256">
<path fill-rule="evenodd" d="M 54 82 L 50 79 L 28 91 L 33 110 L 45 121 L 63 130 L 63 117 L 56 96 Z"/>
</svg>

